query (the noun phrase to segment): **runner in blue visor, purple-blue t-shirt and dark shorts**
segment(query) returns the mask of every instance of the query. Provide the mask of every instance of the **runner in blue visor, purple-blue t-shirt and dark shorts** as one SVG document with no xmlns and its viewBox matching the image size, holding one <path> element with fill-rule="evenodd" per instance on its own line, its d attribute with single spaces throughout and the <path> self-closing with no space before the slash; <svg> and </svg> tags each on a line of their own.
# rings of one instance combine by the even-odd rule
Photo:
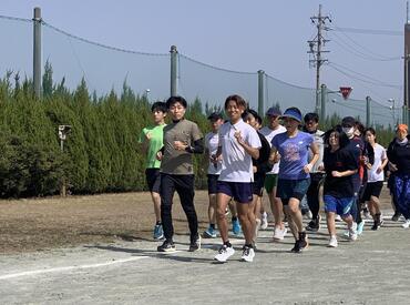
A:
<svg viewBox="0 0 410 305">
<path fill-rule="evenodd" d="M 309 187 L 309 172 L 319 159 L 319 149 L 310 134 L 298 130 L 301 122 L 299 109 L 288 108 L 281 116 L 286 133 L 277 134 L 271 140 L 275 161 L 278 161 L 280 156 L 277 194 L 281 199 L 295 237 L 291 252 L 299 253 L 308 246 L 299 204 Z M 312 157 L 308 163 L 309 149 Z"/>
</svg>

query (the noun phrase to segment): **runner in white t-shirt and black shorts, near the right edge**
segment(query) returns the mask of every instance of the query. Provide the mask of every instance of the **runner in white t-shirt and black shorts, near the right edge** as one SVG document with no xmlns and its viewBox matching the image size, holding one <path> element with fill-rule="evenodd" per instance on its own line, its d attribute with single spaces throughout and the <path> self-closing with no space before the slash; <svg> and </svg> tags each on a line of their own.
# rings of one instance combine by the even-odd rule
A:
<svg viewBox="0 0 410 305">
<path fill-rule="evenodd" d="M 365 189 L 363 200 L 366 201 L 373 218 L 373 225 L 371 230 L 378 230 L 383 223 L 379 196 L 381 189 L 383 187 L 385 167 L 389 160 L 387 159 L 386 149 L 377 143 L 376 131 L 372 128 L 368 128 L 365 131 L 365 135 L 366 141 L 373 148 L 375 163 L 371 169 L 367 171 L 368 182 Z"/>
</svg>

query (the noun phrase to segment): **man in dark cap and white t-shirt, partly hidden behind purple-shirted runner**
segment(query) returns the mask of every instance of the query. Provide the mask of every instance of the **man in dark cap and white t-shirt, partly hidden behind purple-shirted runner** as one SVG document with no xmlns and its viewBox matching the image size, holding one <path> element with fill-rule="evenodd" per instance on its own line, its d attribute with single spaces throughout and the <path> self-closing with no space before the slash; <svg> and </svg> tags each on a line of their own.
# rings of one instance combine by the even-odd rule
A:
<svg viewBox="0 0 410 305">
<path fill-rule="evenodd" d="M 259 132 L 265 135 L 266 140 L 271 143 L 271 139 L 276 134 L 286 132 L 286 129 L 280 125 L 280 115 L 281 112 L 278 108 L 269 108 L 266 112 L 266 116 L 269 120 L 269 124 L 259 130 Z M 271 160 L 273 161 L 273 160 Z M 273 162 L 271 162 L 273 163 Z M 275 232 L 274 240 L 281 241 L 284 240 L 287 230 L 283 222 L 283 210 L 284 206 L 279 197 L 276 196 L 277 183 L 278 183 L 278 173 L 279 173 L 279 162 L 275 163 L 270 172 L 266 173 L 265 179 L 265 190 L 269 196 L 269 203 L 271 213 L 274 214 L 275 220 Z"/>
</svg>

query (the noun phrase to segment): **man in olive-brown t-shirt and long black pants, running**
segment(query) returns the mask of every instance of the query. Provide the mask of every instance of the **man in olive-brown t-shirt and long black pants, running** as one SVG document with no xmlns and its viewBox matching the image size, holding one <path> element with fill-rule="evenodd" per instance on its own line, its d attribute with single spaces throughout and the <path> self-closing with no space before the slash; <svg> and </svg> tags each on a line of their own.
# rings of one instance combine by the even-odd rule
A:
<svg viewBox="0 0 410 305">
<path fill-rule="evenodd" d="M 182 96 L 171 96 L 166 101 L 172 123 L 164 128 L 164 146 L 157 153 L 161 163 L 161 218 L 164 227 L 164 243 L 158 252 L 173 252 L 174 226 L 172 224 L 172 203 L 175 191 L 189 225 L 189 251 L 201 248 L 198 221 L 194 206 L 195 176 L 194 153 L 203 153 L 203 136 L 196 125 L 184 118 L 187 103 Z"/>
</svg>

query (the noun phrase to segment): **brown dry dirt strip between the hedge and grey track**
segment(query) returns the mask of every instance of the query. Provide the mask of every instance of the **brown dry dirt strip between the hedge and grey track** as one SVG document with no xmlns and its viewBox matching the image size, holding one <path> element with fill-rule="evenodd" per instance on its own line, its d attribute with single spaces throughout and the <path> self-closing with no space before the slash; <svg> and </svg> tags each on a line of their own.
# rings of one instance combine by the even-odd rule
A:
<svg viewBox="0 0 410 305">
<path fill-rule="evenodd" d="M 265 205 L 267 199 L 264 196 Z M 387 190 L 383 207 L 390 207 Z M 195 204 L 201 231 L 207 225 L 207 193 L 197 191 Z M 47 251 L 116 240 L 152 240 L 154 214 L 150 193 L 102 194 L 0 201 L 0 254 Z M 177 195 L 173 209 L 175 232 L 187 232 Z"/>
</svg>

